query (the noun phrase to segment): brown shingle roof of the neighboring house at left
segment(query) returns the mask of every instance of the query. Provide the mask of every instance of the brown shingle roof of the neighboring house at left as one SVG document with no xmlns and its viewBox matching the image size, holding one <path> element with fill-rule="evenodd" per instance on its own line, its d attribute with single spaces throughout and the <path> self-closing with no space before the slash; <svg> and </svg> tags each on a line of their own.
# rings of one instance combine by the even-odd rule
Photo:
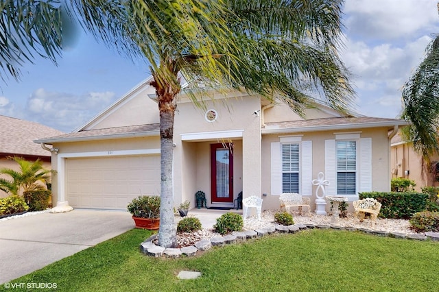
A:
<svg viewBox="0 0 439 292">
<path fill-rule="evenodd" d="M 0 152 L 3 154 L 49 157 L 51 156 L 50 152 L 33 141 L 60 134 L 64 134 L 64 132 L 40 123 L 0 115 Z"/>
</svg>

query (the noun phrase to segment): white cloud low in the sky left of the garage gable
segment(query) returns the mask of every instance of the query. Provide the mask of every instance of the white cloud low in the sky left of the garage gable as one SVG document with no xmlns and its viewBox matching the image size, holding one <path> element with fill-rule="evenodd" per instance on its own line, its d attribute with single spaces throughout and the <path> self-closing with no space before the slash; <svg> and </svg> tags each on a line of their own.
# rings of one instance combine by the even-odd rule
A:
<svg viewBox="0 0 439 292">
<path fill-rule="evenodd" d="M 114 100 L 115 94 L 111 92 L 73 95 L 38 88 L 27 99 L 25 119 L 71 132 L 97 112 L 104 110 Z"/>
</svg>

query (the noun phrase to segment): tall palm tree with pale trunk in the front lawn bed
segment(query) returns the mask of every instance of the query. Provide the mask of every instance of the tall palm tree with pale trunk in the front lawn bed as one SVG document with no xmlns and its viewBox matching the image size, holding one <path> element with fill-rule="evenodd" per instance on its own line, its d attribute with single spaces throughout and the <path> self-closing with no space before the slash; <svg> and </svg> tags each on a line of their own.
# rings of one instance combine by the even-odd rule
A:
<svg viewBox="0 0 439 292">
<path fill-rule="evenodd" d="M 311 92 L 346 110 L 353 90 L 335 49 L 340 45 L 342 2 L 73 1 L 83 27 L 119 52 L 150 63 L 160 111 L 159 245 L 176 245 L 172 143 L 180 76 L 199 80 L 204 88 L 283 98 L 300 114 L 314 101 L 307 95 Z M 196 88 L 197 93 L 204 88 Z M 200 96 L 190 94 L 195 102 Z"/>
</svg>

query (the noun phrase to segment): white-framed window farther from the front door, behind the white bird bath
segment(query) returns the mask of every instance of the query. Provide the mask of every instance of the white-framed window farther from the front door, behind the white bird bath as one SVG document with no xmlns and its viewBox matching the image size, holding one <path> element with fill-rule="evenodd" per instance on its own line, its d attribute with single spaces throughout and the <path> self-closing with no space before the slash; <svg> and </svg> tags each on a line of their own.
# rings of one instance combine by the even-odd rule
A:
<svg viewBox="0 0 439 292">
<path fill-rule="evenodd" d="M 357 143 L 337 141 L 337 194 L 355 195 L 357 182 Z"/>
</svg>

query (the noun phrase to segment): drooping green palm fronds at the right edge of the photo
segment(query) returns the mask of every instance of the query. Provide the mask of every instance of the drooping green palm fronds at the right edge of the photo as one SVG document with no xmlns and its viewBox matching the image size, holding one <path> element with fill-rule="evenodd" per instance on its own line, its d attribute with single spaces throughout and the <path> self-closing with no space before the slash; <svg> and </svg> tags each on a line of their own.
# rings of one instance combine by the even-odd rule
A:
<svg viewBox="0 0 439 292">
<path fill-rule="evenodd" d="M 428 45 L 423 62 L 405 83 L 402 96 L 401 117 L 411 123 L 403 128 L 403 136 L 422 156 L 424 169 L 439 149 L 439 35 Z"/>
</svg>

